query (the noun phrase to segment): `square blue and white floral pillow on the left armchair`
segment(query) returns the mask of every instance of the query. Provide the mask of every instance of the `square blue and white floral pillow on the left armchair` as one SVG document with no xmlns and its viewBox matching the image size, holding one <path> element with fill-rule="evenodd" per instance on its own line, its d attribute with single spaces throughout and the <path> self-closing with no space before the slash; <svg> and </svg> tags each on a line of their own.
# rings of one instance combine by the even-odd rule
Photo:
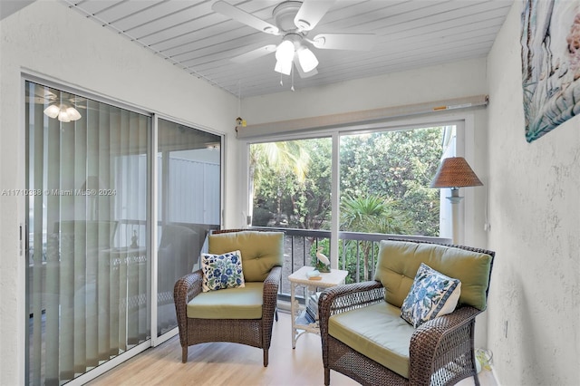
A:
<svg viewBox="0 0 580 386">
<path fill-rule="evenodd" d="M 245 286 L 240 251 L 223 255 L 201 254 L 203 292 Z"/>
</svg>

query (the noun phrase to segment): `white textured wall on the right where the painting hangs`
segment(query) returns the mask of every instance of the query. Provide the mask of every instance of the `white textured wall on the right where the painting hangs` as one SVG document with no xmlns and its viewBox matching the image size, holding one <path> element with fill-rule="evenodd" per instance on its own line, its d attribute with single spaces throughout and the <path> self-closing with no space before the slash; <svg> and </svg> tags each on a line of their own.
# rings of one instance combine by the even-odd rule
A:
<svg viewBox="0 0 580 386">
<path fill-rule="evenodd" d="M 488 56 L 488 345 L 502 385 L 580 384 L 580 117 L 527 143 L 517 0 Z M 507 322 L 507 336 L 504 331 Z"/>
</svg>

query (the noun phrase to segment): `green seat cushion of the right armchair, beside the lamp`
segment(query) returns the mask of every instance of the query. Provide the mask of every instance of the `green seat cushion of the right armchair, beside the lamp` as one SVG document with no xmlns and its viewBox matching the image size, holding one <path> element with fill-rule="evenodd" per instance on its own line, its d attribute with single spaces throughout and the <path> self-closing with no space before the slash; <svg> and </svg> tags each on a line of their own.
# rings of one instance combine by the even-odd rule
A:
<svg viewBox="0 0 580 386">
<path fill-rule="evenodd" d="M 336 314 L 328 321 L 331 336 L 405 378 L 414 331 L 401 319 L 401 309 L 386 302 Z"/>
</svg>

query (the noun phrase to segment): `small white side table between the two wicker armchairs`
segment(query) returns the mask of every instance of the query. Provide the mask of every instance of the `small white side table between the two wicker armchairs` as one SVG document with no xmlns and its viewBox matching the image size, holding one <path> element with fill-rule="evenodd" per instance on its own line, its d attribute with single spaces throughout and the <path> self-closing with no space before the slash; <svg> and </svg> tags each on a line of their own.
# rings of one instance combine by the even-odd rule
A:
<svg viewBox="0 0 580 386">
<path fill-rule="evenodd" d="M 341 269 L 331 269 L 331 272 L 320 274 L 322 279 L 312 280 L 306 276 L 306 273 L 312 270 L 314 270 L 314 267 L 306 265 L 297 270 L 294 274 L 288 276 L 288 280 L 290 281 L 290 307 L 292 310 L 293 349 L 296 348 L 296 341 L 303 333 L 320 334 L 318 321 L 316 320 L 314 323 L 310 323 L 305 316 L 305 306 L 308 303 L 310 292 L 315 292 L 317 288 L 329 288 L 333 287 L 334 285 L 342 285 L 344 284 L 346 275 L 348 275 L 348 271 L 343 271 Z M 297 286 L 303 286 L 305 289 L 304 307 L 301 307 L 298 301 L 295 299 Z"/>
</svg>

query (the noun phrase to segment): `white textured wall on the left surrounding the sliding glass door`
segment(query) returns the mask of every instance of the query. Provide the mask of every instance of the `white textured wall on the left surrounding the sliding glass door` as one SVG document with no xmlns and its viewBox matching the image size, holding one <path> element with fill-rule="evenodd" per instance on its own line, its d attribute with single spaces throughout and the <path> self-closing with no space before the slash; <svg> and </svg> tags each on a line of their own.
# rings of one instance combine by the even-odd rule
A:
<svg viewBox="0 0 580 386">
<path fill-rule="evenodd" d="M 0 189 L 24 188 L 22 71 L 227 133 L 228 143 L 235 140 L 234 96 L 61 2 L 37 1 L 6 17 L 0 21 L 0 39 Z M 227 149 L 226 167 L 233 170 L 237 148 Z M 24 384 L 24 256 L 18 243 L 24 198 L 0 196 L 0 213 L 0 384 L 16 385 Z"/>
</svg>

